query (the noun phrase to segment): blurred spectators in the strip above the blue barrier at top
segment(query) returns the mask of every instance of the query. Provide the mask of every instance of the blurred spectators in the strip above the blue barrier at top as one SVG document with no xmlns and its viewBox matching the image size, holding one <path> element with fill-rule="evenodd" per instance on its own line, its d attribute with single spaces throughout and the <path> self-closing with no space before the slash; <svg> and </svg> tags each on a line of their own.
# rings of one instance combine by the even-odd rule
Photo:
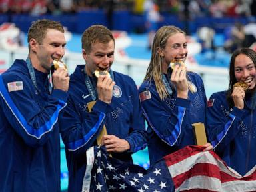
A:
<svg viewBox="0 0 256 192">
<path fill-rule="evenodd" d="M 0 13 L 31 15 L 76 13 L 92 9 L 129 10 L 141 14 L 144 0 L 0 0 Z M 181 17 L 256 15 L 255 0 L 156 0 L 160 12 Z M 185 14 L 184 14 L 185 13 Z"/>
</svg>

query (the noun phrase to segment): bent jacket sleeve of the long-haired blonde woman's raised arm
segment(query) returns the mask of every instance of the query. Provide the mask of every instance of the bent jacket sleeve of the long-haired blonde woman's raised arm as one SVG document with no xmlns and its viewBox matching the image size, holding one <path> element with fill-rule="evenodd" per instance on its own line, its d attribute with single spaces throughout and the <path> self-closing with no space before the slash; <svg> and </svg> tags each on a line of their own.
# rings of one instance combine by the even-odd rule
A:
<svg viewBox="0 0 256 192">
<path fill-rule="evenodd" d="M 170 146 L 179 146 L 183 130 L 186 127 L 187 109 L 189 109 L 190 101 L 173 98 L 173 108 L 171 108 L 160 99 L 156 90 L 141 89 L 139 92 L 140 97 L 145 97 L 147 94 L 147 99 L 141 99 L 147 123 L 162 141 Z"/>
</svg>

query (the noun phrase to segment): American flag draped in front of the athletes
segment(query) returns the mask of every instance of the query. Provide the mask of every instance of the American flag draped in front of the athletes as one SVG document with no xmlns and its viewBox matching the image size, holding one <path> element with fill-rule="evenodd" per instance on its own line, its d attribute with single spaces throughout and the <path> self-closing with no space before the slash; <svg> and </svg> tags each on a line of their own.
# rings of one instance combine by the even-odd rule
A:
<svg viewBox="0 0 256 192">
<path fill-rule="evenodd" d="M 85 191 L 256 191 L 256 166 L 241 176 L 213 151 L 188 146 L 148 170 L 113 159 L 103 147 L 89 149 Z M 88 151 L 87 151 L 88 152 Z"/>
</svg>

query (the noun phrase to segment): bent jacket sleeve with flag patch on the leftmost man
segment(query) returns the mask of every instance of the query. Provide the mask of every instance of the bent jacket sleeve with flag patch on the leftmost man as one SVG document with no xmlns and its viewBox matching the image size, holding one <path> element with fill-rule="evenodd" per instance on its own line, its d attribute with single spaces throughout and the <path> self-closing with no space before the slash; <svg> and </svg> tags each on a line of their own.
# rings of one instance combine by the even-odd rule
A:
<svg viewBox="0 0 256 192">
<path fill-rule="evenodd" d="M 31 147 L 44 145 L 60 111 L 66 105 L 67 93 L 55 89 L 41 106 L 28 79 L 15 74 L 0 76 L 1 107 L 15 132 Z"/>
</svg>

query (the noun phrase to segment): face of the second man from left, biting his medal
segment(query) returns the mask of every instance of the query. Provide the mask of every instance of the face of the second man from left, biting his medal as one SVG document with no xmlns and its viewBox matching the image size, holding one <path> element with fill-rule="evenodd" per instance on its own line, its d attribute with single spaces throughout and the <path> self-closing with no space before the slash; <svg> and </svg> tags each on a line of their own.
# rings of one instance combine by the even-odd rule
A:
<svg viewBox="0 0 256 192">
<path fill-rule="evenodd" d="M 115 42 L 113 40 L 109 41 L 109 43 L 99 43 L 96 41 L 91 45 L 89 53 L 83 49 L 86 73 L 91 76 L 96 69 L 109 71 L 114 61 L 114 53 Z"/>
</svg>

